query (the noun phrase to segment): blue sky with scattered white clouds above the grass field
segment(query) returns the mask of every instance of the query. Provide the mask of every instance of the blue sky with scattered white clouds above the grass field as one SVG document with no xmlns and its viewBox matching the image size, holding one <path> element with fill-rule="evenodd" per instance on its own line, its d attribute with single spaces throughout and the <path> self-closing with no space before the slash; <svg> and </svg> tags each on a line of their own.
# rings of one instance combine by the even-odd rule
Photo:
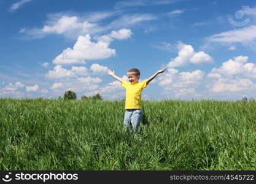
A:
<svg viewBox="0 0 256 184">
<path fill-rule="evenodd" d="M 111 69 L 141 80 L 143 99 L 256 98 L 254 1 L 0 0 L 0 98 L 66 90 L 125 97 Z"/>
</svg>

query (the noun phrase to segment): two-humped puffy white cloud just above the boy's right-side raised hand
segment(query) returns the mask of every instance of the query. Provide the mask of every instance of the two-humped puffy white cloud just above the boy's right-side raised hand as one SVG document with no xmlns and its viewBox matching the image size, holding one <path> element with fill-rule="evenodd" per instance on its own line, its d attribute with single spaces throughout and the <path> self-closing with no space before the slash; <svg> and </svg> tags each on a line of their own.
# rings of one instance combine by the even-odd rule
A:
<svg viewBox="0 0 256 184">
<path fill-rule="evenodd" d="M 167 67 L 180 67 L 186 66 L 188 63 L 192 64 L 207 64 L 213 63 L 213 59 L 208 54 L 201 52 L 195 52 L 192 45 L 186 45 L 180 43 L 178 45 L 179 52 L 178 56 L 171 59 L 167 64 Z"/>
</svg>

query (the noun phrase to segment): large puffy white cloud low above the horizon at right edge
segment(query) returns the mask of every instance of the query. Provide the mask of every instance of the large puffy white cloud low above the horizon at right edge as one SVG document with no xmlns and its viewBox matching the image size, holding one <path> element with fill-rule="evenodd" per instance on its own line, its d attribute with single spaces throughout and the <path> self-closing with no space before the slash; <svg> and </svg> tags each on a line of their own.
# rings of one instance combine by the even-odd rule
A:
<svg viewBox="0 0 256 184">
<path fill-rule="evenodd" d="M 256 85 L 251 79 L 256 79 L 256 66 L 247 63 L 247 56 L 237 56 L 222 63 L 219 68 L 213 68 L 208 74 L 209 93 L 222 96 L 231 95 L 236 98 L 253 95 Z M 212 96 L 214 96 L 212 94 Z"/>
</svg>

